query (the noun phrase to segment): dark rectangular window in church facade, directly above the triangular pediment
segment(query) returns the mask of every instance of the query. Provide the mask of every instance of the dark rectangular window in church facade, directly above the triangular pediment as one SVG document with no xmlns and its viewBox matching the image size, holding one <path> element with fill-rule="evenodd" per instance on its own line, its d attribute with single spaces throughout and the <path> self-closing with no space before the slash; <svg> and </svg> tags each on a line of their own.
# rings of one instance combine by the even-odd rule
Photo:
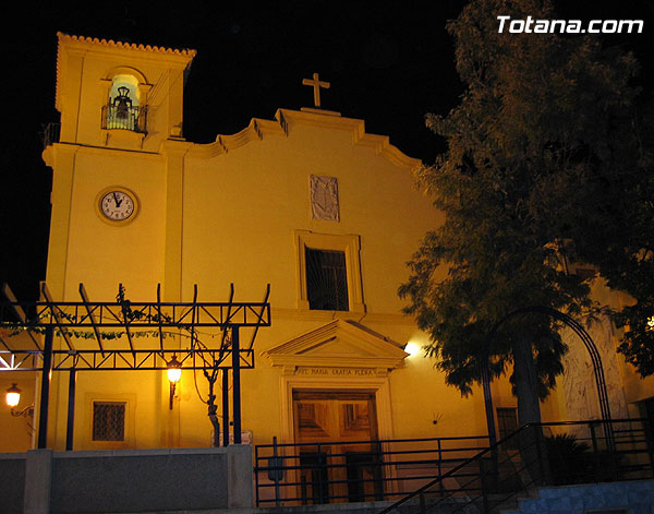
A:
<svg viewBox="0 0 654 514">
<path fill-rule="evenodd" d="M 308 308 L 349 310 L 346 252 L 305 249 Z"/>
</svg>

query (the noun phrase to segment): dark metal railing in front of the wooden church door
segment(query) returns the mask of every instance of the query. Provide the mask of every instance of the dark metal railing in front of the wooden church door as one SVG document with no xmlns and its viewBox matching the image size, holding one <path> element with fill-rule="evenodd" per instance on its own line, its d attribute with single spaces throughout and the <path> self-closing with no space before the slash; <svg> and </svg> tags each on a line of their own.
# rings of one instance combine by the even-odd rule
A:
<svg viewBox="0 0 654 514">
<path fill-rule="evenodd" d="M 395 500 L 487 445 L 486 435 L 259 444 L 255 446 L 256 505 Z"/>
</svg>

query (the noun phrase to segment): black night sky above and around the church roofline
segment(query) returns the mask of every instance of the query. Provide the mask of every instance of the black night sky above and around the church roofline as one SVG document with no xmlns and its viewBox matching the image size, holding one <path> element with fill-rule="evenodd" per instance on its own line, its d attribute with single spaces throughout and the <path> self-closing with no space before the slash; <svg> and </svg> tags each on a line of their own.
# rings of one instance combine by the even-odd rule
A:
<svg viewBox="0 0 654 514">
<path fill-rule="evenodd" d="M 0 146 L 0 282 L 34 299 L 45 277 L 51 172 L 43 164 L 43 125 L 55 110 L 57 31 L 197 50 L 185 88 L 184 135 L 208 143 L 253 117 L 313 105 L 304 77 L 318 72 L 331 87 L 323 107 L 364 119 L 412 157 L 441 150 L 424 115 L 446 115 L 462 86 L 445 31 L 462 0 L 83 2 L 75 9 L 16 3 L 3 16 L 4 112 Z M 564 19 L 644 19 L 643 35 L 604 36 L 635 51 L 642 82 L 654 80 L 654 2 L 559 0 Z M 101 11 L 98 11 L 102 5 Z M 264 5 L 264 7 L 262 7 Z M 601 37 L 601 36 L 598 36 Z"/>
</svg>

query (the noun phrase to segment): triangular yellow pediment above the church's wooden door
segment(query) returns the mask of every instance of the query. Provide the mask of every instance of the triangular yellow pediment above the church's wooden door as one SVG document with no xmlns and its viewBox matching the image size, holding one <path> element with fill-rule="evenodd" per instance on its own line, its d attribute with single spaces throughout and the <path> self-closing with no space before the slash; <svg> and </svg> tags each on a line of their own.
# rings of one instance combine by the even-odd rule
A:
<svg viewBox="0 0 654 514">
<path fill-rule="evenodd" d="M 409 356 L 399 344 L 356 322 L 335 320 L 263 352 L 284 374 L 384 375 Z"/>
</svg>

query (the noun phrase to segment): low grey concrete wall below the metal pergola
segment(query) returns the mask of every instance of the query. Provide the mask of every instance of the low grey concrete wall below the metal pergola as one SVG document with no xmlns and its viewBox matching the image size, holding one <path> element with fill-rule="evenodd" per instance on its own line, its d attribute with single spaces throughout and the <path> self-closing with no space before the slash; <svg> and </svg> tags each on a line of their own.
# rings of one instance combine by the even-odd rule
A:
<svg viewBox="0 0 654 514">
<path fill-rule="evenodd" d="M 221 449 L 0 455 L 3 513 L 111 513 L 252 506 L 252 452 Z"/>
</svg>

